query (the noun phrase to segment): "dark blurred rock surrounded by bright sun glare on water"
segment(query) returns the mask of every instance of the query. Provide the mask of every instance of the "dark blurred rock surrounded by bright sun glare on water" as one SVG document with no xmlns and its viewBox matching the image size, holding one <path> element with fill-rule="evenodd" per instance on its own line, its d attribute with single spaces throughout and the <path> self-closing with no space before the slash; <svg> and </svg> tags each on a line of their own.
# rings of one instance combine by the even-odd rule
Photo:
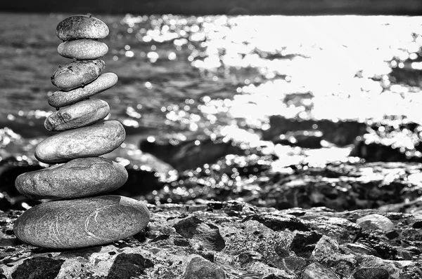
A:
<svg viewBox="0 0 422 279">
<path fill-rule="evenodd" d="M 311 133 L 320 131 L 322 132 L 322 140 L 343 147 L 347 144 L 354 144 L 357 137 L 364 135 L 366 132 L 366 124 L 357 121 L 333 122 L 326 119 L 317 121 L 270 116 L 269 124 L 271 128 L 264 131 L 263 140 L 277 141 L 280 139 L 280 135 L 288 132 L 309 131 Z"/>
</svg>

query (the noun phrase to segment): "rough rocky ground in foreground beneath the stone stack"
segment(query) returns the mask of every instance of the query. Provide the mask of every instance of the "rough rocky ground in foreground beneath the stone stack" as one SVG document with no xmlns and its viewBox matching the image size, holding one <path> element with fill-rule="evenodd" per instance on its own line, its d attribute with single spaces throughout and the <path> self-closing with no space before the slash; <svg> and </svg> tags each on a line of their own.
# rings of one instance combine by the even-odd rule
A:
<svg viewBox="0 0 422 279">
<path fill-rule="evenodd" d="M 37 257 L 64 260 L 57 279 L 118 278 L 117 273 L 122 270 L 127 271 L 122 274 L 139 278 L 184 278 L 192 274 L 196 278 L 206 278 L 207 275 L 221 278 L 219 276 L 224 273 L 226 278 L 233 279 L 302 279 L 302 276 L 318 278 L 312 277 L 318 275 L 326 276 L 322 278 L 381 276 L 407 279 L 421 278 L 422 275 L 421 229 L 418 229 L 421 219 L 417 215 L 376 210 L 334 212 L 325 207 L 275 210 L 238 201 L 197 201 L 148 207 L 152 212 L 151 222 L 141 233 L 96 249 L 69 251 L 35 248 L 21 243 L 12 230 L 21 211 L 0 212 L 3 275 L 11 278 L 25 260 Z M 356 220 L 371 214 L 385 215 L 392 220 L 399 236 L 390 240 L 378 229 L 359 233 Z M 309 226 L 310 231 L 271 229 L 248 218 L 257 215 L 274 215 L 274 219 L 296 216 Z M 196 220 L 184 223 L 184 230 L 191 231 L 192 238 L 190 234 L 181 236 L 174 229 L 174 225 L 186 219 Z M 219 228 L 225 242 L 224 249 L 210 250 L 201 245 L 196 234 L 203 224 Z M 345 231 L 354 228 L 347 224 L 357 226 L 357 231 L 351 229 L 348 235 L 337 233 L 338 228 Z M 323 236 L 316 240 L 318 233 Z M 304 239 L 305 245 L 299 245 L 300 239 Z"/>
</svg>

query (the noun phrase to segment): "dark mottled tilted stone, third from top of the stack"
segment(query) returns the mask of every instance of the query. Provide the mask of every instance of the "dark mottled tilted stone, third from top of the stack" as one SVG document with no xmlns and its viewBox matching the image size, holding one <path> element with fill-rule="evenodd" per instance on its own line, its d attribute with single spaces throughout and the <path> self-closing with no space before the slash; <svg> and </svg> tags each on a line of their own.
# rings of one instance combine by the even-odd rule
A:
<svg viewBox="0 0 422 279">
<path fill-rule="evenodd" d="M 94 81 L 104 68 L 106 62 L 100 59 L 75 61 L 58 67 L 51 76 L 51 83 L 68 91 Z"/>
</svg>

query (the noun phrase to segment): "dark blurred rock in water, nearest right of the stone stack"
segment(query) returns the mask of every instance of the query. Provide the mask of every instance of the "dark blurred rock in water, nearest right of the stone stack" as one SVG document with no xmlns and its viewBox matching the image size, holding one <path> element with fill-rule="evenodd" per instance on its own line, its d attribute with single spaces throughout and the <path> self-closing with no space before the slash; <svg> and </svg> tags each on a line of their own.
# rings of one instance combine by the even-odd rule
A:
<svg viewBox="0 0 422 279">
<path fill-rule="evenodd" d="M 198 144 L 199 143 L 199 144 Z M 227 154 L 245 154 L 233 142 L 219 140 L 187 140 L 179 144 L 160 144 L 143 140 L 140 149 L 169 163 L 178 171 L 196 169 L 214 163 Z"/>
</svg>

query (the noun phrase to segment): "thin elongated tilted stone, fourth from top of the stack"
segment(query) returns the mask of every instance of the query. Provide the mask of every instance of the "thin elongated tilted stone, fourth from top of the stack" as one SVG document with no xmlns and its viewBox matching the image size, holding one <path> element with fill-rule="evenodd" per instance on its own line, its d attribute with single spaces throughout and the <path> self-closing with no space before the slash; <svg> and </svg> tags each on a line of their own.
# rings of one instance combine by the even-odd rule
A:
<svg viewBox="0 0 422 279">
<path fill-rule="evenodd" d="M 101 74 L 98 76 L 98 79 L 88 83 L 84 87 L 75 88 L 70 91 L 58 90 L 49 94 L 48 102 L 51 107 L 65 107 L 113 87 L 117 83 L 117 79 L 117 74 L 114 73 Z"/>
</svg>

